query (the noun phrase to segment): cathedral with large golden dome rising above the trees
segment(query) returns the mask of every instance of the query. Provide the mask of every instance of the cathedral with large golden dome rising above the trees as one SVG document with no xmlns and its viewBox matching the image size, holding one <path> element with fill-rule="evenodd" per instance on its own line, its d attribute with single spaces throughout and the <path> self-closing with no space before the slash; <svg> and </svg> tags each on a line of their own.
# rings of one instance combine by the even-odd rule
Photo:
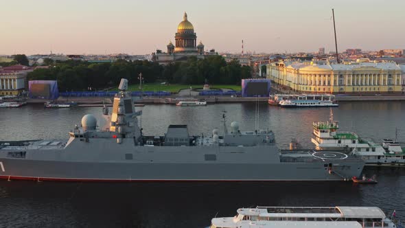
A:
<svg viewBox="0 0 405 228">
<path fill-rule="evenodd" d="M 187 13 L 184 13 L 183 21 L 177 26 L 177 32 L 174 36 L 175 45 L 170 41 L 167 45 L 167 52 L 157 50 L 152 54 L 152 60 L 160 64 L 168 64 L 170 62 L 186 61 L 190 56 L 204 58 L 204 45 L 200 41 L 197 45 L 197 35 L 194 32 L 194 26 L 188 21 Z M 210 53 L 211 54 L 211 53 Z"/>
</svg>

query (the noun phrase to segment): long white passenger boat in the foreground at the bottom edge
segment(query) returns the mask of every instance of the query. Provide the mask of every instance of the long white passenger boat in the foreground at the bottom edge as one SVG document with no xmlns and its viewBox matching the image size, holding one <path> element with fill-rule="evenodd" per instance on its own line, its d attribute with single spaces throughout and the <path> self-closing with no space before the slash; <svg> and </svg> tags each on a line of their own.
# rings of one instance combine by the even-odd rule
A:
<svg viewBox="0 0 405 228">
<path fill-rule="evenodd" d="M 400 227 L 400 221 L 378 207 L 256 207 L 240 208 L 234 217 L 213 218 L 210 228 L 252 227 Z"/>
</svg>

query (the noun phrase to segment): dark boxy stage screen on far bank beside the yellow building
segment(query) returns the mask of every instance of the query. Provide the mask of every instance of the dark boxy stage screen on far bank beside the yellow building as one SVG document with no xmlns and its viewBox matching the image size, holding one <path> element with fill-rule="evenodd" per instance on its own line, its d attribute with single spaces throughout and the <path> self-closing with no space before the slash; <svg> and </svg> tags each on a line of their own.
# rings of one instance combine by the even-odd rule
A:
<svg viewBox="0 0 405 228">
<path fill-rule="evenodd" d="M 268 97 L 270 79 L 242 79 L 242 97 Z"/>
</svg>

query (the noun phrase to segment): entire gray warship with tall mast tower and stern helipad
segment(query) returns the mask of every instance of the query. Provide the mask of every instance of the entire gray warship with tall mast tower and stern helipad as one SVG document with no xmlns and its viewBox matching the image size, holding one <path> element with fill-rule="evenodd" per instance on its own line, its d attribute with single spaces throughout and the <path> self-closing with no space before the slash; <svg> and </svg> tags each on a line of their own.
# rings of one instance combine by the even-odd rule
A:
<svg viewBox="0 0 405 228">
<path fill-rule="evenodd" d="M 341 152 L 281 151 L 272 130 L 189 135 L 170 125 L 162 136 L 144 135 L 128 80 L 122 79 L 105 126 L 93 115 L 67 140 L 0 142 L 0 178 L 34 181 L 343 181 L 360 176 L 364 161 Z"/>
</svg>

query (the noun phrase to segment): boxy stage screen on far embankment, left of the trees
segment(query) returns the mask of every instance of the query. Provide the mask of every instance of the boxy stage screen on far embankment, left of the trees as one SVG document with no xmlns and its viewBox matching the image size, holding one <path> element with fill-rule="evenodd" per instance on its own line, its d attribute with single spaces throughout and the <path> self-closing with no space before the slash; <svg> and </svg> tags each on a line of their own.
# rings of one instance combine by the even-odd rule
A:
<svg viewBox="0 0 405 228">
<path fill-rule="evenodd" d="M 58 82 L 53 80 L 34 80 L 28 82 L 30 98 L 55 100 L 59 97 Z"/>
</svg>

